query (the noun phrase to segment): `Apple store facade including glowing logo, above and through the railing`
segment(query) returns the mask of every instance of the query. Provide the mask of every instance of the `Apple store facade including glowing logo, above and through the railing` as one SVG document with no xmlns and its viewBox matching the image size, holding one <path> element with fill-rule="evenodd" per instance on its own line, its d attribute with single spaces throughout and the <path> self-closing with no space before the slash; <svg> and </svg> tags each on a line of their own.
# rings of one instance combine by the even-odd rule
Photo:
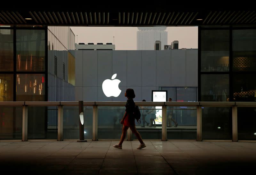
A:
<svg viewBox="0 0 256 175">
<path fill-rule="evenodd" d="M 152 100 L 152 90 L 167 91 L 172 101 L 197 101 L 198 49 L 174 50 L 76 50 L 75 101 L 126 101 L 127 88 L 134 101 Z M 147 106 L 151 108 L 151 106 Z M 196 139 L 196 107 L 169 107 L 178 127 L 167 128 L 168 139 Z M 92 132 L 92 108 L 85 110 L 86 134 Z M 98 138 L 119 139 L 124 106 L 98 106 Z M 146 114 L 148 110 L 142 109 Z M 63 121 L 65 122 L 65 121 Z M 73 123 L 72 123 L 73 122 Z M 76 120 L 69 125 L 75 126 Z M 136 124 L 144 139 L 162 138 L 162 110 L 156 106 L 156 125 L 150 115 Z M 175 123 L 172 122 L 172 125 Z M 151 125 L 153 127 L 149 127 Z M 171 124 L 170 124 L 171 125 Z M 70 126 L 70 128 L 74 128 Z M 71 129 L 68 130 L 71 132 Z M 78 132 L 78 131 L 76 131 Z M 65 135 L 66 138 L 72 138 Z M 134 137 L 134 135 L 133 135 Z"/>
</svg>

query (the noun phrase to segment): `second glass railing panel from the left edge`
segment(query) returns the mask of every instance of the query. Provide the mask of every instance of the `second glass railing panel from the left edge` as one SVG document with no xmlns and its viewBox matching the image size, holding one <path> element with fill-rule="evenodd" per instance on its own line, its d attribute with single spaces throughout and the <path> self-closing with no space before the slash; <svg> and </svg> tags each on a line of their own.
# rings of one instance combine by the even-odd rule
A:
<svg viewBox="0 0 256 175">
<path fill-rule="evenodd" d="M 53 107 L 28 107 L 28 139 L 57 139 L 57 111 Z"/>
</svg>

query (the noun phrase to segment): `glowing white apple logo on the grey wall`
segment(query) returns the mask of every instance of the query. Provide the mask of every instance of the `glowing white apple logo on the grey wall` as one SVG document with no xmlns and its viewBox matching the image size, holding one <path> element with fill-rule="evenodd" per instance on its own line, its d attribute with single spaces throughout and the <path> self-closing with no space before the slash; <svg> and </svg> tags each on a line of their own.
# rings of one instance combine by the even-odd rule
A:
<svg viewBox="0 0 256 175">
<path fill-rule="evenodd" d="M 102 83 L 102 90 L 107 97 L 111 97 L 111 96 L 118 97 L 121 93 L 121 90 L 118 87 L 118 84 L 121 81 L 115 78 L 116 78 L 116 74 L 112 76 L 111 78 L 112 80 L 106 79 Z"/>
</svg>

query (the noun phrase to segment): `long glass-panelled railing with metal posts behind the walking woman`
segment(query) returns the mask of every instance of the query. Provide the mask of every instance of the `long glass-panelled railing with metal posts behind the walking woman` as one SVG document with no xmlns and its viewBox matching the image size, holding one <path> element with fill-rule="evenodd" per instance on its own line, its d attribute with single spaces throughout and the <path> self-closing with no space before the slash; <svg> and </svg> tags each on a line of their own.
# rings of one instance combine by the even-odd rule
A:
<svg viewBox="0 0 256 175">
<path fill-rule="evenodd" d="M 84 102 L 84 139 L 120 139 L 126 102 Z M 147 140 L 256 140 L 256 102 L 135 102 Z M 0 102 L 0 140 L 80 138 L 78 102 Z M 137 139 L 128 129 L 127 140 Z"/>
</svg>

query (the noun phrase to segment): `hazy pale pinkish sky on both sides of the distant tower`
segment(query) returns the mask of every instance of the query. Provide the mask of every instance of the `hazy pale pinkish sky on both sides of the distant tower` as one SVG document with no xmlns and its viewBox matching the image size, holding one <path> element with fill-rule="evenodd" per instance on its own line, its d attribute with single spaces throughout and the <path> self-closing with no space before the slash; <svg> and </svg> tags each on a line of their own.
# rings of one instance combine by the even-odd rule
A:
<svg viewBox="0 0 256 175">
<path fill-rule="evenodd" d="M 115 36 L 116 50 L 137 50 L 137 27 L 71 27 L 71 29 L 77 35 L 76 43 L 114 43 L 113 36 Z M 178 40 L 179 48 L 198 47 L 197 27 L 167 27 L 166 31 L 168 45 Z"/>
</svg>

